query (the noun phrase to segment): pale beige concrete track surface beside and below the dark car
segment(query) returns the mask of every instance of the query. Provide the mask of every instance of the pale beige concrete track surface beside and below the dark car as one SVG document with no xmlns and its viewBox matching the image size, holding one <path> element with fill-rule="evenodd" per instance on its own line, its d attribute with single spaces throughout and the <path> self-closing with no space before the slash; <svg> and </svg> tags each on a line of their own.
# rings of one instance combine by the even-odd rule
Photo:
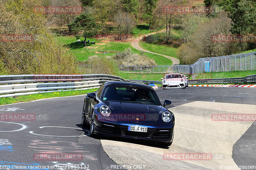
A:
<svg viewBox="0 0 256 170">
<path fill-rule="evenodd" d="M 186 103 L 170 110 L 175 110 L 174 140 L 170 147 L 153 147 L 112 140 L 101 140 L 102 147 L 108 156 L 120 165 L 141 164 L 146 169 L 239 169 L 232 159 L 233 146 L 236 141 L 252 125 L 253 121 L 212 121 L 210 116 L 204 115 L 200 109 L 191 109 L 197 113 L 183 114 L 188 107 L 198 107 L 212 110 L 212 114 L 256 114 L 256 106 L 248 104 L 219 103 L 195 101 Z M 182 109 L 184 108 L 184 109 Z M 131 150 L 132 148 L 132 150 Z M 122 151 L 122 152 L 120 152 Z M 148 154 L 152 153 L 152 156 Z M 209 160 L 164 160 L 164 153 L 210 153 Z M 145 154 L 147 159 L 145 159 Z M 158 155 L 160 163 L 152 163 Z M 158 157 L 157 157 L 158 158 Z M 142 161 L 143 160 L 143 161 Z M 186 163 L 187 164 L 186 164 Z"/>
</svg>

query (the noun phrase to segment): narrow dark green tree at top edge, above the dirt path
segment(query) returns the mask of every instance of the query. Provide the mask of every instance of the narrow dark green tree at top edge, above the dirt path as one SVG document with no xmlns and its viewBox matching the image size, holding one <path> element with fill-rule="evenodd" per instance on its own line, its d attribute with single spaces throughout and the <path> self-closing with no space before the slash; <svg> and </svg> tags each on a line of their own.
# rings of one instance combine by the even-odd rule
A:
<svg viewBox="0 0 256 170">
<path fill-rule="evenodd" d="M 156 8 L 157 1 L 158 0 L 144 0 L 143 19 L 148 22 L 149 29 L 151 29 L 153 10 Z"/>
</svg>

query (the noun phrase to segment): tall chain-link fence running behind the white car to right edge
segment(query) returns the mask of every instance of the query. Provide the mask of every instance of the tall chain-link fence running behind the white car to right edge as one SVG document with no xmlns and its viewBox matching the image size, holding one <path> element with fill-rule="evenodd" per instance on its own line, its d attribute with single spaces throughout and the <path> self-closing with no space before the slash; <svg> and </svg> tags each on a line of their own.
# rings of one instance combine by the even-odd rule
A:
<svg viewBox="0 0 256 170">
<path fill-rule="evenodd" d="M 256 52 L 199 58 L 190 65 L 118 65 L 126 73 L 183 73 L 256 70 Z"/>
</svg>

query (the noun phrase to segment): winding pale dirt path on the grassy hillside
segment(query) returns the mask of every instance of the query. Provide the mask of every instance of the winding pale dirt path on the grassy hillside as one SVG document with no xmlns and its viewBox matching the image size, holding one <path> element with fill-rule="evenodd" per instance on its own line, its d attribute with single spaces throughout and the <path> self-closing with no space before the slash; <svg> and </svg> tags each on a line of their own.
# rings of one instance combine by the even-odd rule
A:
<svg viewBox="0 0 256 170">
<path fill-rule="evenodd" d="M 161 30 L 161 31 L 154 32 L 154 33 L 149 33 L 149 34 L 147 34 L 147 36 L 153 35 L 153 34 L 156 34 L 156 33 L 162 33 L 162 32 L 164 32 L 164 31 L 165 31 L 165 29 L 163 29 L 163 30 Z M 136 48 L 137 50 L 144 51 L 144 52 L 146 52 L 146 53 L 151 53 L 151 54 L 156 54 L 156 55 L 162 55 L 162 56 L 164 56 L 164 57 L 166 57 L 166 58 L 169 58 L 170 60 L 172 60 L 172 64 L 173 64 L 173 65 L 180 63 L 180 60 L 177 59 L 177 58 L 174 58 L 174 57 L 171 57 L 171 56 L 167 56 L 167 55 L 163 55 L 163 54 L 153 53 L 153 52 L 150 52 L 150 51 L 145 50 L 145 49 L 143 49 L 142 47 L 140 47 L 140 45 L 139 45 L 139 40 L 143 39 L 144 36 L 145 36 L 145 35 L 143 35 L 143 36 L 137 38 L 136 41 L 132 41 L 132 47 L 133 47 L 133 48 Z"/>
</svg>

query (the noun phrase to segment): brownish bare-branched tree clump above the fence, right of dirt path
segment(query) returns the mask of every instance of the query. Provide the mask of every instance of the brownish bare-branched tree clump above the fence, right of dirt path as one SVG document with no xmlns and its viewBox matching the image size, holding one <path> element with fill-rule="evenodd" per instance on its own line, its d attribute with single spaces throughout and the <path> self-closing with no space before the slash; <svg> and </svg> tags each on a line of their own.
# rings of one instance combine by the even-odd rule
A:
<svg viewBox="0 0 256 170">
<path fill-rule="evenodd" d="M 198 58 L 234 54 L 241 47 L 234 42 L 214 42 L 212 35 L 230 34 L 231 19 L 225 12 L 219 17 L 203 22 L 192 34 L 191 42 L 182 44 L 177 55 L 182 64 L 192 64 Z"/>
</svg>

